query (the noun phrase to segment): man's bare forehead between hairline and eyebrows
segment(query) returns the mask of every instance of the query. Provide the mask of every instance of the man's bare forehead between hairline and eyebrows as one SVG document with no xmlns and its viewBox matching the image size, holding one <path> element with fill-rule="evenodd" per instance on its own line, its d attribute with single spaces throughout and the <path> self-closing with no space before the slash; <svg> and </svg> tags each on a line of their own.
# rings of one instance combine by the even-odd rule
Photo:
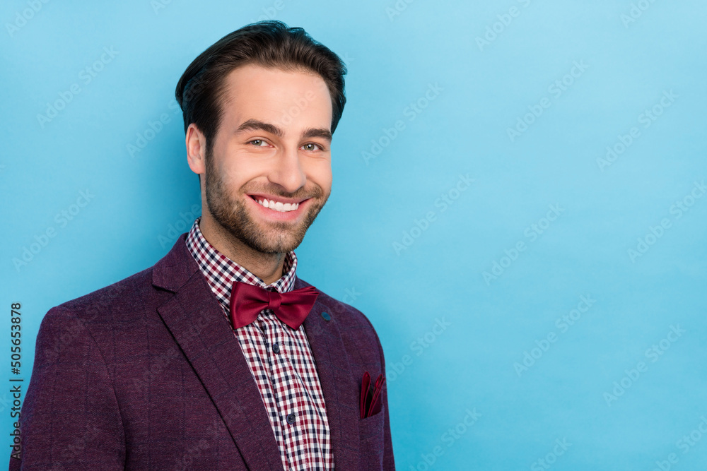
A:
<svg viewBox="0 0 707 471">
<path fill-rule="evenodd" d="M 224 81 L 223 124 L 238 127 L 247 119 L 282 128 L 310 126 L 329 129 L 332 99 L 324 79 L 317 73 L 239 66 Z"/>
</svg>

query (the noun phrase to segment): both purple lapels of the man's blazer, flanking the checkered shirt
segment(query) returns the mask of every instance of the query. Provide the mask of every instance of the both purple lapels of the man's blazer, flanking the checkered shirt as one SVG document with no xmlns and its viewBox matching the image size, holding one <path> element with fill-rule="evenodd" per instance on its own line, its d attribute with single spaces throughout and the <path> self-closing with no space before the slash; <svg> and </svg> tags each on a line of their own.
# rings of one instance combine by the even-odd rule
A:
<svg viewBox="0 0 707 471">
<path fill-rule="evenodd" d="M 170 330 L 252 470 L 282 467 L 267 412 L 238 340 L 182 234 L 153 266 L 153 286 L 174 293 L 157 311 Z M 296 278 L 295 289 L 310 286 Z M 325 301 L 325 299 L 327 301 Z M 322 385 L 334 463 L 358 467 L 358 383 L 351 374 L 337 302 L 320 292 L 303 326 Z M 324 313 L 330 320 L 325 320 Z M 209 427 L 211 424 L 205 424 Z M 214 424 L 213 428 L 218 427 Z"/>
</svg>

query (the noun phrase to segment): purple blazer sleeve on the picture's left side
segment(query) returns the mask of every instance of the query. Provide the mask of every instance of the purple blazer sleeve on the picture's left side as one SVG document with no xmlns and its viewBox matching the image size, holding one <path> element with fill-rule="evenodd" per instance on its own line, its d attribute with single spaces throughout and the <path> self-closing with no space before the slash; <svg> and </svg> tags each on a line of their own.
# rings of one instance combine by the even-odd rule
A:
<svg viewBox="0 0 707 471">
<path fill-rule="evenodd" d="M 20 415 L 21 459 L 10 470 L 123 470 L 125 437 L 95 339 L 66 309 L 42 320 Z"/>
</svg>

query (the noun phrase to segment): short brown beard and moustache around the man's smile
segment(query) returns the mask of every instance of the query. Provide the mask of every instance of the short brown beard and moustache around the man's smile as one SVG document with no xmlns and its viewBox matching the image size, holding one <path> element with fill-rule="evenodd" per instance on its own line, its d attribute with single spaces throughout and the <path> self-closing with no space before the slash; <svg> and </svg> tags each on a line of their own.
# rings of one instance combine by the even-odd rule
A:
<svg viewBox="0 0 707 471">
<path fill-rule="evenodd" d="M 228 193 L 223 174 L 216 171 L 213 154 L 209 150 L 206 152 L 205 178 L 206 206 L 214 220 L 235 239 L 262 254 L 285 254 L 296 249 L 329 198 L 328 194 L 324 195 L 324 190 L 319 185 L 315 185 L 311 191 L 302 188 L 302 191 L 291 194 L 284 194 L 276 189 L 255 188 L 240 192 L 239 195 L 245 198 L 250 198 L 246 193 L 267 193 L 283 198 L 312 198 L 303 220 L 296 225 L 287 221 L 261 222 L 252 217 L 247 202 Z"/>
</svg>

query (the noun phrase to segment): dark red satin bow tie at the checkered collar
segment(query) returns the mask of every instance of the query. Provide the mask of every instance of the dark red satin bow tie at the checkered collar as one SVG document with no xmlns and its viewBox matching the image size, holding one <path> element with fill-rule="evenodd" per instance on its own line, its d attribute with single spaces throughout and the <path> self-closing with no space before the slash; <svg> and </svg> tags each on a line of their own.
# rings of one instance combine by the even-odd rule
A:
<svg viewBox="0 0 707 471">
<path fill-rule="evenodd" d="M 319 292 L 313 286 L 279 293 L 234 281 L 230 290 L 230 322 L 234 329 L 247 326 L 260 311 L 272 309 L 281 321 L 297 329 L 312 310 L 317 296 Z"/>
</svg>

